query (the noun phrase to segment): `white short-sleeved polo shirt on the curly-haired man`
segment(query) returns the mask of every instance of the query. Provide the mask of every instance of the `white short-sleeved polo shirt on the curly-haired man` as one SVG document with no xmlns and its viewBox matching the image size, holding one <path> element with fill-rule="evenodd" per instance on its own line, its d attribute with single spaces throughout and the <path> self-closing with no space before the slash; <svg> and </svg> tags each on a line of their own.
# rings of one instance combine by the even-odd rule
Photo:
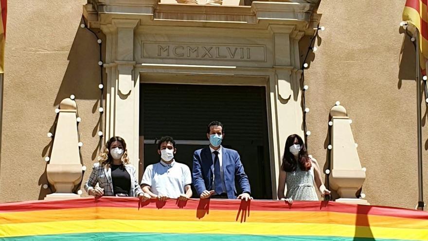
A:
<svg viewBox="0 0 428 241">
<path fill-rule="evenodd" d="M 192 175 L 189 167 L 175 160 L 171 164 L 160 161 L 145 169 L 141 184 L 149 185 L 156 195 L 178 198 L 186 193 L 184 187 L 192 184 Z"/>
</svg>

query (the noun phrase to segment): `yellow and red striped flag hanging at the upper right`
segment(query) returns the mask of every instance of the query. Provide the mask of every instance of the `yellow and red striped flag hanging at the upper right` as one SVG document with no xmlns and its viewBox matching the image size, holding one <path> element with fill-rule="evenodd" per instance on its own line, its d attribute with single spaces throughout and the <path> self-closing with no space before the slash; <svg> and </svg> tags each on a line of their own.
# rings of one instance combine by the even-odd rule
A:
<svg viewBox="0 0 428 241">
<path fill-rule="evenodd" d="M 425 63 L 428 59 L 428 10 L 427 0 L 406 0 L 403 21 L 414 25 L 419 31 L 420 65 L 425 74 Z"/>
</svg>

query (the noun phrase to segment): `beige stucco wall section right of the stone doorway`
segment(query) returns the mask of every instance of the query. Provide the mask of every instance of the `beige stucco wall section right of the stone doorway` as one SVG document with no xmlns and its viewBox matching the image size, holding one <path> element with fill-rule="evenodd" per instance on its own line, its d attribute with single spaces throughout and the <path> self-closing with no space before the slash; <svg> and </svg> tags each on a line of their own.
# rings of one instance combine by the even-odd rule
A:
<svg viewBox="0 0 428 241">
<path fill-rule="evenodd" d="M 367 168 L 366 199 L 375 205 L 414 208 L 418 201 L 416 85 L 406 80 L 414 73 L 414 65 L 403 64 L 400 70 L 403 34 L 399 23 L 404 3 L 321 1 L 319 13 L 326 31 L 320 32 L 321 46 L 305 72 L 307 127 L 312 131 L 309 150 L 323 167 L 328 114 L 339 100 L 353 120 L 360 161 Z M 423 132 L 427 130 L 425 125 Z M 424 146 L 427 137 L 423 135 Z M 428 197 L 427 175 L 424 185 Z"/>
</svg>

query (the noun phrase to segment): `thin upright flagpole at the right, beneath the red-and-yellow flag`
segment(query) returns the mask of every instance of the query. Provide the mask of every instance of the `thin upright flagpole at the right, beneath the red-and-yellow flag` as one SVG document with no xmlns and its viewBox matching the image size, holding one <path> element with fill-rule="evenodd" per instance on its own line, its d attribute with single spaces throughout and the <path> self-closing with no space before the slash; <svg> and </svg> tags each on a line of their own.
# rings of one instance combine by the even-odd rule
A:
<svg viewBox="0 0 428 241">
<path fill-rule="evenodd" d="M 419 188 L 419 201 L 418 208 L 424 210 L 424 187 L 422 179 L 422 126 L 421 126 L 421 68 L 420 68 L 420 51 L 419 51 L 419 30 L 416 28 L 415 34 L 416 42 L 416 110 L 417 110 L 417 125 L 418 125 L 418 188 Z"/>
</svg>

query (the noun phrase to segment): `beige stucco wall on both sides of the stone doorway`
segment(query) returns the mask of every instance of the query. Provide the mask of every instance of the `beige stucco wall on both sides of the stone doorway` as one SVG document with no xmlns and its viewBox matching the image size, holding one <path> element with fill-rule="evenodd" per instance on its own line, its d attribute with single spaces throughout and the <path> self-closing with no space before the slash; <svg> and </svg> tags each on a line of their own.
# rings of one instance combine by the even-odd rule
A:
<svg viewBox="0 0 428 241">
<path fill-rule="evenodd" d="M 305 84 L 310 88 L 306 93 L 307 126 L 312 132 L 309 150 L 321 167 L 328 113 L 339 100 L 354 121 L 359 157 L 367 167 L 363 186 L 367 200 L 413 208 L 417 203 L 415 83 L 398 77 L 399 71 L 403 76 L 413 72 L 399 69 L 403 35 L 398 24 L 404 2 L 322 1 L 319 12 L 326 31 L 320 33 L 322 43 L 305 72 Z M 9 2 L 0 202 L 40 199 L 49 193 L 41 187 L 47 183 L 43 157 L 49 153 L 50 139 L 46 133 L 54 123 L 57 104 L 71 93 L 83 119 L 81 150 L 90 171 L 98 143 L 94 128 L 99 116 L 99 68 L 95 38 L 79 28 L 85 3 Z M 424 135 L 424 144 L 427 138 Z M 424 149 L 428 167 L 426 153 Z M 428 196 L 428 176 L 425 180 Z"/>
</svg>

